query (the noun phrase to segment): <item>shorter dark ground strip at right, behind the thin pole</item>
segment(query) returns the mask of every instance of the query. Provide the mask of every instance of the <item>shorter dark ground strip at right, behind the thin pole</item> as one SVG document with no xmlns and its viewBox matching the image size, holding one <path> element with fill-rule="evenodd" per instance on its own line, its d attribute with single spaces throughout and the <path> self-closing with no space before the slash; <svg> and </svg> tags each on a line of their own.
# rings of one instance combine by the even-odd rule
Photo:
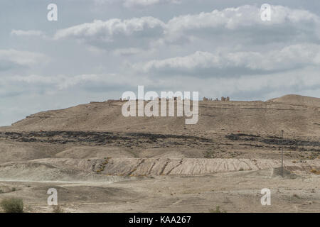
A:
<svg viewBox="0 0 320 227">
<path fill-rule="evenodd" d="M 268 136 L 267 138 L 262 138 L 260 135 L 250 135 L 244 133 L 229 134 L 225 135 L 225 138 L 229 140 L 239 140 L 239 141 L 252 141 L 256 143 L 245 143 L 242 145 L 251 145 L 259 148 L 270 148 L 268 145 L 280 146 L 283 145 L 289 150 L 300 150 L 300 151 L 316 151 L 320 152 L 320 142 L 319 141 L 307 141 L 307 140 L 297 140 L 288 138 L 279 138 L 277 136 Z M 262 143 L 266 145 L 257 145 L 257 143 Z M 305 148 L 309 147 L 309 148 Z"/>
</svg>

